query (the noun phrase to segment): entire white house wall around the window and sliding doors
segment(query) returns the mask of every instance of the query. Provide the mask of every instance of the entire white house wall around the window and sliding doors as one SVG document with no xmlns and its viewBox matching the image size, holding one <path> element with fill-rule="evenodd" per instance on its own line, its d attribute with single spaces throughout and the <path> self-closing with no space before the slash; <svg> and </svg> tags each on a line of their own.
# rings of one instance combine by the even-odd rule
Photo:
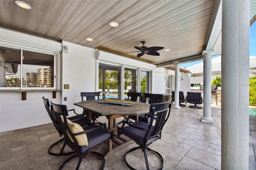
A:
<svg viewBox="0 0 256 170">
<path fill-rule="evenodd" d="M 12 38 L 14 35 L 15 40 Z M 68 109 L 76 109 L 77 113 L 82 113 L 82 108 L 74 105 L 75 102 L 81 101 L 80 93 L 96 91 L 97 89 L 96 70 L 98 67 L 96 65 L 95 49 L 65 41 L 54 43 L 52 40 L 22 33 L 16 34 L 16 32 L 12 31 L 3 36 L 1 28 L 0 40 L 3 40 L 2 38 L 28 45 L 31 48 L 34 48 L 33 44 L 36 44 L 36 47 L 40 47 L 40 45 L 44 46 L 45 44 L 53 43 L 56 46 L 51 47 L 53 49 L 50 50 L 56 48 L 56 51 L 60 50 L 62 45 L 66 45 L 69 52 L 61 53 L 58 57 L 58 74 L 56 76 L 60 79 L 58 89 L 63 91 L 57 92 L 56 99 L 52 99 L 51 91 L 29 91 L 24 101 L 21 100 L 21 92 L 0 91 L 0 132 L 51 123 L 44 107 L 42 96 L 53 103 L 67 105 Z M 45 48 L 48 48 L 48 46 L 46 45 Z M 103 51 L 100 51 L 99 59 L 152 70 L 152 82 L 154 82 L 152 83 L 152 93 L 164 93 L 165 69 L 156 69 L 156 65 Z M 69 89 L 64 89 L 64 84 L 69 84 Z M 64 97 L 67 97 L 67 101 L 64 101 Z"/>
</svg>

